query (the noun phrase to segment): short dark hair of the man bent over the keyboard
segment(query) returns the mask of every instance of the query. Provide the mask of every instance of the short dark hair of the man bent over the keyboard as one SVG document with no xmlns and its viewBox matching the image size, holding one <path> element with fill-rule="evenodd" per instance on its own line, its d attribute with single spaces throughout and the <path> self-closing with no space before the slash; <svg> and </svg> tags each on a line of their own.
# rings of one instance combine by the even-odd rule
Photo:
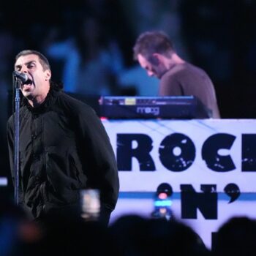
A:
<svg viewBox="0 0 256 256">
<path fill-rule="evenodd" d="M 160 53 L 170 57 L 170 53 L 174 51 L 173 43 L 170 38 L 162 31 L 146 31 L 140 34 L 133 47 L 133 58 L 138 59 L 141 54 L 146 59 L 153 53 Z"/>
</svg>

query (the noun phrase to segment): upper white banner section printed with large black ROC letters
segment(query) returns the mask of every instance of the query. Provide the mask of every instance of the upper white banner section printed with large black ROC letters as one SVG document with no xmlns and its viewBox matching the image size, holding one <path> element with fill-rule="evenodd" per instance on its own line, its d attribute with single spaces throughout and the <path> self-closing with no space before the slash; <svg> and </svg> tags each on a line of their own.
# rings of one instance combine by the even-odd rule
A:
<svg viewBox="0 0 256 256">
<path fill-rule="evenodd" d="M 256 191 L 256 120 L 103 121 L 118 161 L 121 192 L 153 192 L 167 182 L 236 184 Z M 120 170 L 122 169 L 122 170 Z"/>
</svg>

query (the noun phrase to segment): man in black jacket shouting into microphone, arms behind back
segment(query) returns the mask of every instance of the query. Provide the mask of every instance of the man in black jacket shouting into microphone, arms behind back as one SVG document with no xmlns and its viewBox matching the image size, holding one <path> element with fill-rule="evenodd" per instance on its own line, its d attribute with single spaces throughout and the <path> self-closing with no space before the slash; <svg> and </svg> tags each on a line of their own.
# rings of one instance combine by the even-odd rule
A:
<svg viewBox="0 0 256 256">
<path fill-rule="evenodd" d="M 48 59 L 36 50 L 15 58 L 20 91 L 19 205 L 33 219 L 72 214 L 80 189 L 99 189 L 99 220 L 108 224 L 118 199 L 118 170 L 105 128 L 94 110 L 50 80 Z M 17 75 L 20 74 L 20 77 Z M 7 123 L 12 179 L 14 118 Z"/>
</svg>

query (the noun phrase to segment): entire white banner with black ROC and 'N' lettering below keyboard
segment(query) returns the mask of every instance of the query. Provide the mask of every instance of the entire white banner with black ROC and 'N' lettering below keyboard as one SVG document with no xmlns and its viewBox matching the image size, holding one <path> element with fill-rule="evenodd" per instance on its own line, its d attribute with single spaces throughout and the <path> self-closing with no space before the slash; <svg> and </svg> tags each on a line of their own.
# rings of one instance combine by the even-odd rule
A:
<svg viewBox="0 0 256 256">
<path fill-rule="evenodd" d="M 256 120 L 106 120 L 120 195 L 110 221 L 151 217 L 160 184 L 171 209 L 211 248 L 212 234 L 235 216 L 256 218 Z"/>
</svg>

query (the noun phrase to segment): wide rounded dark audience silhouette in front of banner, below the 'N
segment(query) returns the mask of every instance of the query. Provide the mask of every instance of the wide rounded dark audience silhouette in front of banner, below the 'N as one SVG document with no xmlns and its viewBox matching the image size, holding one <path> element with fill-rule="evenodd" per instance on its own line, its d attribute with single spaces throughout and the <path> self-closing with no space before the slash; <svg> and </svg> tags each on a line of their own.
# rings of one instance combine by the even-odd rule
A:
<svg viewBox="0 0 256 256">
<path fill-rule="evenodd" d="M 120 217 L 109 227 L 121 255 L 204 256 L 210 252 L 191 227 L 176 220 Z"/>
</svg>

